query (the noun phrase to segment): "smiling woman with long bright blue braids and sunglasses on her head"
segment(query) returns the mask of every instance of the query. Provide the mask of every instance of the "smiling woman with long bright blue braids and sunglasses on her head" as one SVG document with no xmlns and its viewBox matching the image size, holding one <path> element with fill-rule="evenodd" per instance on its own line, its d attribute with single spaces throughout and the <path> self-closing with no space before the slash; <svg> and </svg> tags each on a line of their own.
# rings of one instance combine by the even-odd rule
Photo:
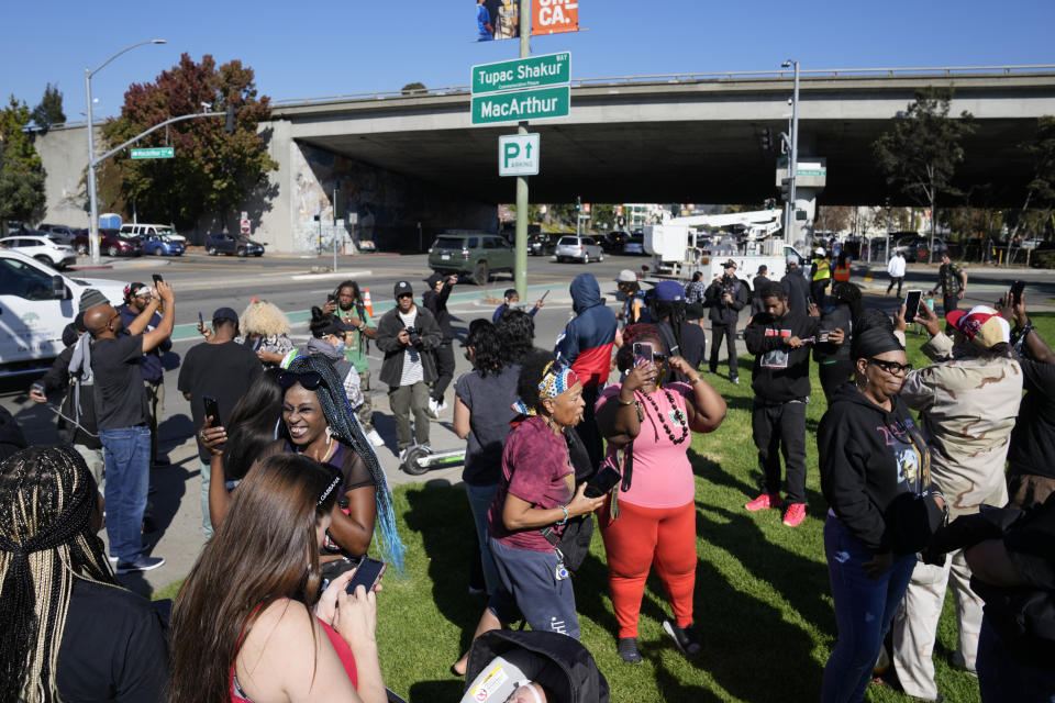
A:
<svg viewBox="0 0 1055 703">
<path fill-rule="evenodd" d="M 344 387 L 322 356 L 295 359 L 278 375 L 282 388 L 279 440 L 264 453 L 292 453 L 335 467 L 343 477 L 333 522 L 320 549 L 324 578 L 355 567 L 378 535 L 381 558 L 402 571 L 403 543 L 396 532 L 392 496 L 373 446 L 355 420 Z M 222 454 L 226 431 L 204 427 L 203 444 Z M 213 460 L 213 466 L 221 464 Z M 251 469 L 252 470 L 252 469 Z"/>
</svg>

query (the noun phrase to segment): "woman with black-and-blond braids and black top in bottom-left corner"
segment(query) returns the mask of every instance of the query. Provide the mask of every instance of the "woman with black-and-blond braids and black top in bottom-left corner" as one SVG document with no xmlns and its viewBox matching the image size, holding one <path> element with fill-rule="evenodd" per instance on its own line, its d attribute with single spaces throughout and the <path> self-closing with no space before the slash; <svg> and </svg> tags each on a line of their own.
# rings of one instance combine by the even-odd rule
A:
<svg viewBox="0 0 1055 703">
<path fill-rule="evenodd" d="M 159 701 L 165 635 L 107 563 L 102 505 L 69 447 L 0 465 L 0 701 Z"/>
</svg>

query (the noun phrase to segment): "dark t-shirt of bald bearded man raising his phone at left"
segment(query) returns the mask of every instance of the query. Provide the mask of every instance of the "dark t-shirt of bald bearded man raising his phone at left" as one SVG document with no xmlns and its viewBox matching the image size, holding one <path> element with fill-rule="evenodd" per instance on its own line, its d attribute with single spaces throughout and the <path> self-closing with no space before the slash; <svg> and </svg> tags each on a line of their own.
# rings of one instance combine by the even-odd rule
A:
<svg viewBox="0 0 1055 703">
<path fill-rule="evenodd" d="M 146 424 L 149 416 L 140 358 L 143 337 L 96 339 L 91 345 L 91 372 L 96 382 L 96 426 L 120 429 Z"/>
</svg>

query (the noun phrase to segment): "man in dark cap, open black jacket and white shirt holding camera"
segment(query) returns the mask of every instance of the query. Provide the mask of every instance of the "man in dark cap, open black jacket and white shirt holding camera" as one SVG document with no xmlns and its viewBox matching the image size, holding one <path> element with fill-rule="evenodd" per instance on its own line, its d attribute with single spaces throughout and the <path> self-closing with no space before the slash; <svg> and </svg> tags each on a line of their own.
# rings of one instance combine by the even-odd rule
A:
<svg viewBox="0 0 1055 703">
<path fill-rule="evenodd" d="M 400 460 L 411 446 L 410 413 L 414 413 L 413 440 L 429 446 L 429 383 L 436 380 L 433 350 L 442 342 L 431 312 L 414 304 L 408 281 L 396 283 L 396 308 L 377 323 L 377 348 L 385 353 L 381 382 L 388 384 L 388 403 L 396 419 Z"/>
</svg>

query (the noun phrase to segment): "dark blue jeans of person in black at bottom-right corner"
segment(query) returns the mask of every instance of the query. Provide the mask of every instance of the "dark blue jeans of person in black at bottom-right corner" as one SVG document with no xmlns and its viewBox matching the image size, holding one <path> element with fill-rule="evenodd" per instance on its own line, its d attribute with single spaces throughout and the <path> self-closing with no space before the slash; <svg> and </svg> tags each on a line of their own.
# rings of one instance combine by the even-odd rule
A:
<svg viewBox="0 0 1055 703">
<path fill-rule="evenodd" d="M 978 638 L 977 667 L 981 703 L 1055 701 L 1055 670 L 1017 658 L 986 618 Z"/>
</svg>

